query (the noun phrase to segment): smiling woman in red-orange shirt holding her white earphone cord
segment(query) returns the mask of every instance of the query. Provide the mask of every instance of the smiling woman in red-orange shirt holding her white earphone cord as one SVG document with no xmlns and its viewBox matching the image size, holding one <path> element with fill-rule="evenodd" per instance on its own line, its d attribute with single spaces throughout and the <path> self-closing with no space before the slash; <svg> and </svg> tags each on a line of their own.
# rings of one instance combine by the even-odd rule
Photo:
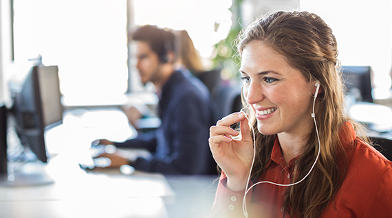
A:
<svg viewBox="0 0 392 218">
<path fill-rule="evenodd" d="M 249 116 L 210 128 L 222 170 L 210 217 L 392 217 L 392 162 L 345 114 L 329 26 L 276 12 L 242 30 L 237 49 Z"/>
</svg>

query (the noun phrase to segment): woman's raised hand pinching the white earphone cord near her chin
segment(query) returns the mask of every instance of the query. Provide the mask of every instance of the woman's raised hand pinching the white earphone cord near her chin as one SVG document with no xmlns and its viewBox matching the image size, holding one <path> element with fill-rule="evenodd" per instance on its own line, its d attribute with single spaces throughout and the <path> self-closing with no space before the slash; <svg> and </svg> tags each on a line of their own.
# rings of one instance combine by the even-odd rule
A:
<svg viewBox="0 0 392 218">
<path fill-rule="evenodd" d="M 233 139 L 239 132 L 230 126 L 241 122 L 241 138 Z M 248 118 L 243 112 L 232 113 L 210 127 L 210 149 L 217 164 L 228 177 L 226 188 L 244 190 L 253 160 L 253 141 Z"/>
</svg>

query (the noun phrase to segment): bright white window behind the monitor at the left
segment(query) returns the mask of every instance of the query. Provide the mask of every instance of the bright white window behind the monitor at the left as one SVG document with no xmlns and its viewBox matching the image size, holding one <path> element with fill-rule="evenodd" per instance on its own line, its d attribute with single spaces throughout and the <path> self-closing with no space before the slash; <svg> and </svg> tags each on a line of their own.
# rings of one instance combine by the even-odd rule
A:
<svg viewBox="0 0 392 218">
<path fill-rule="evenodd" d="M 64 96 L 123 94 L 127 1 L 14 0 L 14 63 L 39 54 L 58 65 Z"/>
</svg>

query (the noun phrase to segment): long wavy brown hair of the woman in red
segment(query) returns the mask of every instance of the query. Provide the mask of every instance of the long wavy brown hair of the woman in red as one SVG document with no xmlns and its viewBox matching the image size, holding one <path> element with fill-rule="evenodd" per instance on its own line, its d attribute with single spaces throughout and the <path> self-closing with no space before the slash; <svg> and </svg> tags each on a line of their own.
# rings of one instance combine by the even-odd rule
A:
<svg viewBox="0 0 392 218">
<path fill-rule="evenodd" d="M 316 122 L 320 134 L 320 157 L 312 173 L 300 184 L 288 186 L 284 207 L 291 216 L 320 217 L 333 201 L 347 171 L 347 155 L 339 135 L 344 122 L 351 122 L 360 133 L 359 124 L 345 113 L 345 90 L 338 61 L 338 49 L 331 28 L 309 12 L 275 12 L 258 19 L 239 33 L 236 46 L 241 57 L 251 41 L 261 41 L 285 56 L 287 63 L 300 70 L 308 81 L 318 80 L 323 92 L 316 98 Z M 257 121 L 252 118 L 254 129 Z M 252 180 L 265 171 L 276 135 L 255 133 L 257 151 Z M 318 153 L 316 129 L 307 136 L 307 146 L 295 162 L 292 183 L 309 172 Z"/>
</svg>

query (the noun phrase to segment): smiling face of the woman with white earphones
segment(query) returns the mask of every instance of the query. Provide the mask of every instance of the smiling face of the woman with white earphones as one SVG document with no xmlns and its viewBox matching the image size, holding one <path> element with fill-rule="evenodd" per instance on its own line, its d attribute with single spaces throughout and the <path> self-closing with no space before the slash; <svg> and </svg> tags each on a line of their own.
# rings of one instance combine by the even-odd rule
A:
<svg viewBox="0 0 392 218">
<path fill-rule="evenodd" d="M 314 82 L 261 41 L 252 41 L 243 49 L 240 72 L 243 94 L 262 134 L 309 133 Z"/>
</svg>

